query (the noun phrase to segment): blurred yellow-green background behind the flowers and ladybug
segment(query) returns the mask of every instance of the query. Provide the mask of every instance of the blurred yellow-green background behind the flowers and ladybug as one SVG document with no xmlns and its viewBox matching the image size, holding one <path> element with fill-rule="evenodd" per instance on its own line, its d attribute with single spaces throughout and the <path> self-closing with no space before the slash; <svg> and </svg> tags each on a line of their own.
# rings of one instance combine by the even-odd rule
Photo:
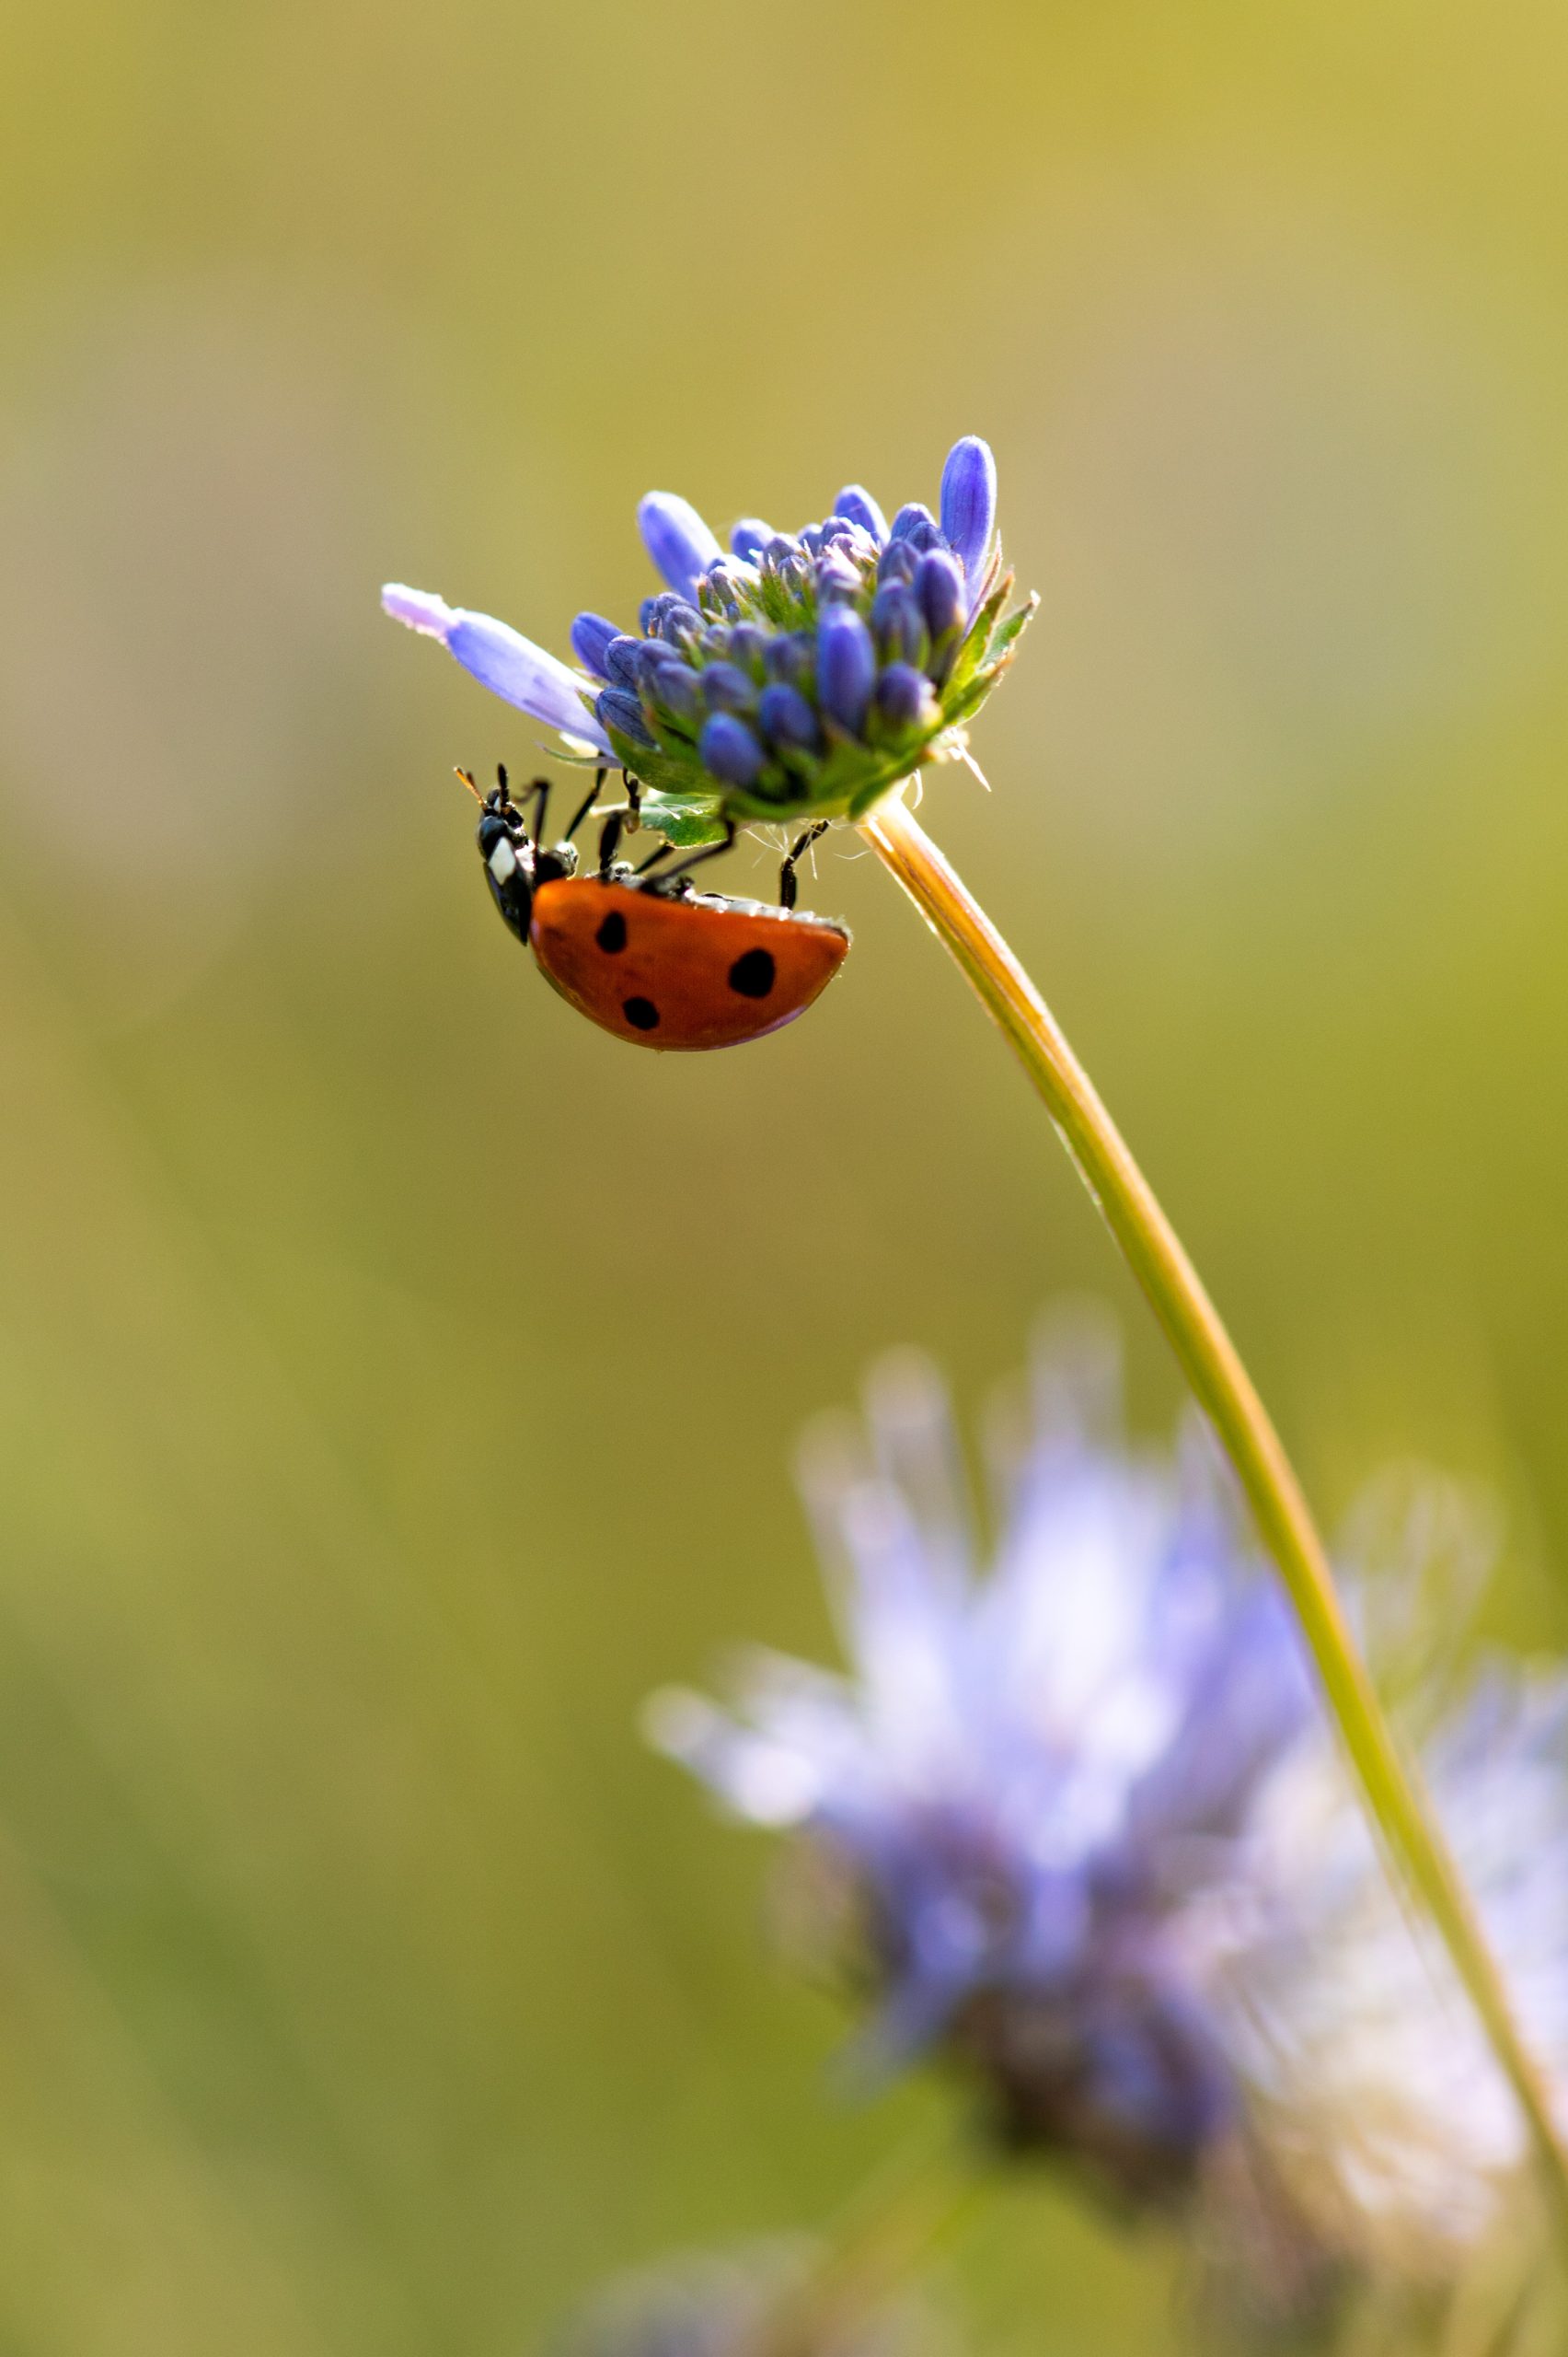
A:
<svg viewBox="0 0 1568 2357">
<path fill-rule="evenodd" d="M 824 2216 L 765 1848 L 638 1749 L 829 1643 L 789 1487 L 869 1353 L 965 1409 L 1062 1289 L 1175 1384 L 956 976 L 629 1054 L 494 922 L 377 613 L 563 643 L 633 502 L 935 495 L 1043 613 L 928 818 L 1057 1002 L 1333 1520 L 1568 1563 L 1559 7 L 59 0 L 0 94 L 0 2352 L 523 2352 Z M 746 856 L 737 863 L 746 889 Z M 760 877 L 760 865 L 756 874 Z M 1048 2187 L 994 2352 L 1170 2345 Z"/>
</svg>

